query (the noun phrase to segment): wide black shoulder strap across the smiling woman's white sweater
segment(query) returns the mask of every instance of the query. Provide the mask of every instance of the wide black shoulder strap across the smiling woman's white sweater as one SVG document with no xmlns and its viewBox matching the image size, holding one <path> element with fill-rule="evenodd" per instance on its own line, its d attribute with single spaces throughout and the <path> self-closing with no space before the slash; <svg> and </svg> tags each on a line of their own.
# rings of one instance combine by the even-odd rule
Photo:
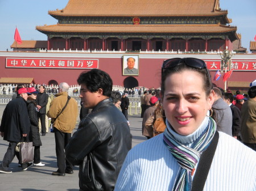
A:
<svg viewBox="0 0 256 191">
<path fill-rule="evenodd" d="M 209 147 L 201 155 L 199 164 L 197 165 L 195 177 L 192 181 L 191 191 L 201 191 L 204 189 L 204 184 L 210 170 L 210 165 L 212 164 L 212 159 L 218 145 L 218 137 L 218 131 L 216 131 Z"/>
</svg>

